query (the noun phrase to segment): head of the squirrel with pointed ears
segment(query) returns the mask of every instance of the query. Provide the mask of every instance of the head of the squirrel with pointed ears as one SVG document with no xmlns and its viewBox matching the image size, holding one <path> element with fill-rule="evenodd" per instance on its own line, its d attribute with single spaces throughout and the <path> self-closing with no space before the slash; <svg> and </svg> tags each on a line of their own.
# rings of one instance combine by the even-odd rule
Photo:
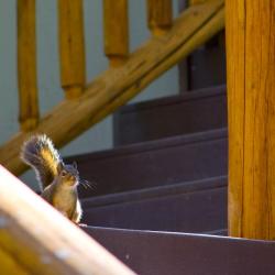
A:
<svg viewBox="0 0 275 275">
<path fill-rule="evenodd" d="M 57 165 L 58 182 L 66 186 L 77 186 L 79 183 L 79 174 L 77 169 L 77 164 L 64 164 L 59 162 Z"/>
</svg>

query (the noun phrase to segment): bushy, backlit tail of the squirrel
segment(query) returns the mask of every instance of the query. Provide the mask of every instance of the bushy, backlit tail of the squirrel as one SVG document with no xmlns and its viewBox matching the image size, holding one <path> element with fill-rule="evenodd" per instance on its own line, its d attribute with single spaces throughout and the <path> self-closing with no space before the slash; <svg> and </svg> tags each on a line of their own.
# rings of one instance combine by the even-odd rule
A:
<svg viewBox="0 0 275 275">
<path fill-rule="evenodd" d="M 41 190 L 44 190 L 57 176 L 57 166 L 63 161 L 53 142 L 45 134 L 36 134 L 24 142 L 21 160 L 35 170 Z"/>
</svg>

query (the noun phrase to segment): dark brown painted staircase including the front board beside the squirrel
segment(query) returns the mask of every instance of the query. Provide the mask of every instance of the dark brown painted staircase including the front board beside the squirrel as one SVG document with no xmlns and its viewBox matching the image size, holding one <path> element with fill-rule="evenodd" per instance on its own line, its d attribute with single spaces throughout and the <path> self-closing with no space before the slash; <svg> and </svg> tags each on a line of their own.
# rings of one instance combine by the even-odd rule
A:
<svg viewBox="0 0 275 275">
<path fill-rule="evenodd" d="M 122 107 L 116 127 L 116 148 L 67 158 L 97 183 L 88 234 L 138 274 L 274 274 L 274 243 L 224 238 L 224 86 Z"/>
</svg>

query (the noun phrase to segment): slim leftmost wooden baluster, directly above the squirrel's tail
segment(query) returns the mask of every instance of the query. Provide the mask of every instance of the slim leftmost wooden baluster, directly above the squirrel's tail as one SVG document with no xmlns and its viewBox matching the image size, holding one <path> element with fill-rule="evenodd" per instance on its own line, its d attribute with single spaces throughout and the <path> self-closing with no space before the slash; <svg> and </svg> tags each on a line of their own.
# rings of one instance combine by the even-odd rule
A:
<svg viewBox="0 0 275 275">
<path fill-rule="evenodd" d="M 38 123 L 35 0 L 18 0 L 19 121 L 22 131 Z"/>
</svg>

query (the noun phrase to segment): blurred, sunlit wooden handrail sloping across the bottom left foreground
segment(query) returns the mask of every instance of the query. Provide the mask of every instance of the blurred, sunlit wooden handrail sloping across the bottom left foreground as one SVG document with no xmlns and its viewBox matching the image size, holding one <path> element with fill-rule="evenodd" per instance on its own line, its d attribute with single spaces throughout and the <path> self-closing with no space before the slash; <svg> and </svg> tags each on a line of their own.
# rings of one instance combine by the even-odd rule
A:
<svg viewBox="0 0 275 275">
<path fill-rule="evenodd" d="M 2 166 L 0 177 L 4 274 L 134 274 Z"/>
</svg>

